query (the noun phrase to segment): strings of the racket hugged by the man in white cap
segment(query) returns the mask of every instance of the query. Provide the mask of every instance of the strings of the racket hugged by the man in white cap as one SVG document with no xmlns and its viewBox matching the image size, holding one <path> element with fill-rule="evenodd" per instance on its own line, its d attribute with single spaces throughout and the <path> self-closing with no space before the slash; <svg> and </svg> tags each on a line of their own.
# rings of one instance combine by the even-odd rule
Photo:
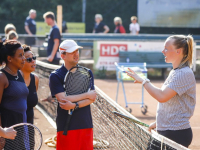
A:
<svg viewBox="0 0 200 150">
<path fill-rule="evenodd" d="M 67 95 L 82 94 L 90 87 L 90 74 L 84 70 L 77 70 L 75 73 L 69 72 L 65 90 Z"/>
</svg>

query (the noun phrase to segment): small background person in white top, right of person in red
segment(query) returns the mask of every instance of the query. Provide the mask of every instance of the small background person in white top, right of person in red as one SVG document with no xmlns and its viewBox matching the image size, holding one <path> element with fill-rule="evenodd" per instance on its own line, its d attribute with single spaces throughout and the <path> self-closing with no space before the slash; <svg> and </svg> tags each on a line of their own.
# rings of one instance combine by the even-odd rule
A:
<svg viewBox="0 0 200 150">
<path fill-rule="evenodd" d="M 137 23 L 137 17 L 131 17 L 131 24 L 129 25 L 129 30 L 132 35 L 138 35 L 140 31 L 140 25 Z"/>
</svg>

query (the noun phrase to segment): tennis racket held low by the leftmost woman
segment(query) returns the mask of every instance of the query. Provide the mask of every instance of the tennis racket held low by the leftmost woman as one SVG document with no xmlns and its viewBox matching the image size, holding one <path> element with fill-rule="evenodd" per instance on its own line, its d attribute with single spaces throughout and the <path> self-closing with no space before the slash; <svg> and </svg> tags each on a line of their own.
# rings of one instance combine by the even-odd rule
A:
<svg viewBox="0 0 200 150">
<path fill-rule="evenodd" d="M 17 135 L 14 140 L 1 138 L 0 150 L 39 150 L 42 146 L 42 134 L 33 124 L 13 125 Z"/>
</svg>

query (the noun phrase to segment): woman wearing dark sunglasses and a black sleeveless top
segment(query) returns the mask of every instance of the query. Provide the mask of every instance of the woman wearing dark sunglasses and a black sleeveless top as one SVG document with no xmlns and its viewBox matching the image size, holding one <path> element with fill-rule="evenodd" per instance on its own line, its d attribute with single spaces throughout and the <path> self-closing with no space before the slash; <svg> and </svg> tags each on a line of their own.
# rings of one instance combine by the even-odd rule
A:
<svg viewBox="0 0 200 150">
<path fill-rule="evenodd" d="M 22 47 L 24 49 L 25 63 L 23 68 L 21 69 L 21 73 L 24 78 L 24 82 L 29 89 L 26 115 L 27 122 L 33 124 L 33 107 L 35 107 L 38 103 L 38 96 L 36 92 L 38 89 L 39 78 L 37 75 L 31 72 L 35 71 L 36 56 L 33 55 L 30 46 L 22 45 Z"/>
</svg>

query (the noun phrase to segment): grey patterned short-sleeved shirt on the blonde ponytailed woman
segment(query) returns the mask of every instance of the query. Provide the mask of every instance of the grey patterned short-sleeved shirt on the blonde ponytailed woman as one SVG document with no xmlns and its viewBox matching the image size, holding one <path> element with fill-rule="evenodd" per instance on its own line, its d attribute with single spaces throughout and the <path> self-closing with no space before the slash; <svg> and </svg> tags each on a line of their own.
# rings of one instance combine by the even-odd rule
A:
<svg viewBox="0 0 200 150">
<path fill-rule="evenodd" d="M 177 94 L 165 103 L 158 103 L 157 130 L 190 128 L 189 119 L 196 104 L 196 80 L 189 67 L 172 70 L 161 89 L 168 87 Z"/>
</svg>

